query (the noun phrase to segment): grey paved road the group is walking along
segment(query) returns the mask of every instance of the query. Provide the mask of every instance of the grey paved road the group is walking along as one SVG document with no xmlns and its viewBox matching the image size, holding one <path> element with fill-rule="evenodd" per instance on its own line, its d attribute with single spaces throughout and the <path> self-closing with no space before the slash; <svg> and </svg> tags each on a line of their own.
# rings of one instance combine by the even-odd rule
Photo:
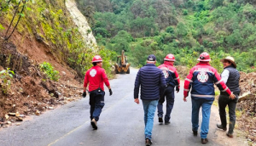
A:
<svg viewBox="0 0 256 146">
<path fill-rule="evenodd" d="M 141 146 L 144 145 L 143 104 L 133 102 L 136 69 L 129 75 L 118 75 L 110 81 L 113 95 L 105 96 L 98 130 L 92 130 L 89 118 L 88 97 L 61 106 L 55 110 L 24 121 L 20 126 L 10 126 L 0 131 L 1 146 Z M 182 85 L 183 87 L 183 85 Z M 190 99 L 183 102 L 183 88 L 176 94 L 171 125 L 159 125 L 154 118 L 153 143 L 155 146 L 201 145 L 201 138 L 191 131 Z M 209 143 L 217 143 L 215 134 L 218 116 L 211 116 Z M 201 122 L 201 121 L 200 121 Z"/>
</svg>

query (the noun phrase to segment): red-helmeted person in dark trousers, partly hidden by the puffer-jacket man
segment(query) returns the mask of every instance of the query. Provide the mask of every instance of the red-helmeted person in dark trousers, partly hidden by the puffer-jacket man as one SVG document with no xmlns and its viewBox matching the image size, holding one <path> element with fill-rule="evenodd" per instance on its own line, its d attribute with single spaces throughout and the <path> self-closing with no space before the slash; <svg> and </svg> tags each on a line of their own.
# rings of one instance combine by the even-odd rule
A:
<svg viewBox="0 0 256 146">
<path fill-rule="evenodd" d="M 157 105 L 158 109 L 158 121 L 163 122 L 163 103 L 166 98 L 166 115 L 165 115 L 165 124 L 170 124 L 172 108 L 174 104 L 174 87 L 176 87 L 177 93 L 179 92 L 179 76 L 177 74 L 176 68 L 173 66 L 175 57 L 172 53 L 166 55 L 164 59 L 164 64 L 158 66 L 160 70 L 163 71 L 166 78 L 166 88 L 164 94 L 160 97 L 159 103 Z"/>
</svg>

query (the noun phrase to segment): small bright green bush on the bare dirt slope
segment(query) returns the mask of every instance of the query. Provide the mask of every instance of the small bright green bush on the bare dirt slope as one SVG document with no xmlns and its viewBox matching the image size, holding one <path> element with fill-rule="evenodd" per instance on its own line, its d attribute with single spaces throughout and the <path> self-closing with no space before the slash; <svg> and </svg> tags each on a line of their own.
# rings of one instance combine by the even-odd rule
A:
<svg viewBox="0 0 256 146">
<path fill-rule="evenodd" d="M 49 77 L 50 80 L 59 80 L 59 71 L 54 70 L 54 67 L 51 64 L 44 62 L 40 65 L 40 69 L 46 74 L 47 77 Z"/>
</svg>

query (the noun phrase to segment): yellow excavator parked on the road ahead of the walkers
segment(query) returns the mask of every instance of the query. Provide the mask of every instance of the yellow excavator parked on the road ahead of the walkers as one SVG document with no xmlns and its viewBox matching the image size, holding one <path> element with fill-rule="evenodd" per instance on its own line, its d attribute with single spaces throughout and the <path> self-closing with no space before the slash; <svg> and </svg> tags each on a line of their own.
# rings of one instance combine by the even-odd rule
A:
<svg viewBox="0 0 256 146">
<path fill-rule="evenodd" d="M 121 56 L 117 57 L 116 60 L 116 64 L 114 64 L 115 67 L 115 73 L 119 74 L 119 73 L 126 73 L 126 74 L 130 74 L 130 64 L 128 64 L 127 62 L 127 56 L 125 56 L 125 51 L 122 50 L 122 54 Z"/>
</svg>

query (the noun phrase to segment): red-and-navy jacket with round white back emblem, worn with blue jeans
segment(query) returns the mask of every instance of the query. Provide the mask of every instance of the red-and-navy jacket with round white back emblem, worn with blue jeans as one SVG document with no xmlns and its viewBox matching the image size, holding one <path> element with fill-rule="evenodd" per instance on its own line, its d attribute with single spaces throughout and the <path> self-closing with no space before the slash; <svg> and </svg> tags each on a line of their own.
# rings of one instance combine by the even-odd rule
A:
<svg viewBox="0 0 256 146">
<path fill-rule="evenodd" d="M 220 91 L 226 92 L 229 95 L 231 94 L 229 87 L 225 85 L 224 81 L 218 75 L 218 71 L 209 62 L 200 62 L 189 71 L 189 75 L 184 82 L 183 95 L 186 98 L 192 87 L 191 98 L 214 100 L 214 84 Z"/>
</svg>

